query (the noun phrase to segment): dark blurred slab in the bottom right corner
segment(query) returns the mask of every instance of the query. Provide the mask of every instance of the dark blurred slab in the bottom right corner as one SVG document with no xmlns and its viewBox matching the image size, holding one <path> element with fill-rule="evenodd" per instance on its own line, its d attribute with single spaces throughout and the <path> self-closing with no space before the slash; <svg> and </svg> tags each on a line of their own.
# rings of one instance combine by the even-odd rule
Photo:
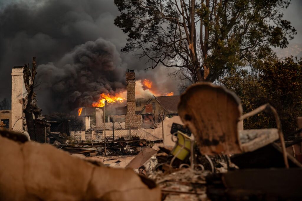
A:
<svg viewBox="0 0 302 201">
<path fill-rule="evenodd" d="M 211 200 L 301 200 L 302 169 L 250 169 L 208 175 Z"/>
</svg>

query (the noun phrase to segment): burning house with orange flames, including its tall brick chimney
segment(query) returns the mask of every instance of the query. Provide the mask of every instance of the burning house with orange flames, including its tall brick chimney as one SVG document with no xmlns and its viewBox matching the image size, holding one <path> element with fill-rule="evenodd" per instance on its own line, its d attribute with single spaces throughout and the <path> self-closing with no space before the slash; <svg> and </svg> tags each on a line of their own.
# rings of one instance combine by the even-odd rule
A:
<svg viewBox="0 0 302 201">
<path fill-rule="evenodd" d="M 173 92 L 161 96 L 161 94 L 153 91 L 152 81 L 147 79 L 135 81 L 133 70 L 126 72 L 126 83 L 127 105 L 116 106 L 114 110 L 109 110 L 108 114 L 105 114 L 105 121 L 108 117 L 108 123 L 125 122 L 126 129 L 150 128 L 153 127 L 153 123 L 161 122 L 166 116 L 171 118 L 178 115 L 177 104 L 180 96 L 174 96 Z M 138 91 L 136 91 L 137 87 L 139 87 Z M 139 94 L 139 98 L 136 98 L 136 93 Z M 101 94 L 99 100 L 92 103 L 92 107 L 79 108 L 78 115 L 85 122 L 85 129 L 88 130 L 90 126 L 102 127 L 104 123 L 104 105 L 107 103 L 123 103 L 124 100 L 124 93 Z"/>
</svg>

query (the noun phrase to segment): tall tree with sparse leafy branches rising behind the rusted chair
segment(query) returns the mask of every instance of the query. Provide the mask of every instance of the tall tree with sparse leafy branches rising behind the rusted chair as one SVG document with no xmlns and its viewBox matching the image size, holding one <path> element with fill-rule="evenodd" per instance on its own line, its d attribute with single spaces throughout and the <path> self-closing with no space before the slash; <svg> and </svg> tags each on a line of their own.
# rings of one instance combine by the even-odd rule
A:
<svg viewBox="0 0 302 201">
<path fill-rule="evenodd" d="M 237 66 L 284 48 L 296 30 L 283 19 L 290 0 L 114 0 L 123 52 L 185 69 L 192 83 L 215 81 Z"/>
</svg>

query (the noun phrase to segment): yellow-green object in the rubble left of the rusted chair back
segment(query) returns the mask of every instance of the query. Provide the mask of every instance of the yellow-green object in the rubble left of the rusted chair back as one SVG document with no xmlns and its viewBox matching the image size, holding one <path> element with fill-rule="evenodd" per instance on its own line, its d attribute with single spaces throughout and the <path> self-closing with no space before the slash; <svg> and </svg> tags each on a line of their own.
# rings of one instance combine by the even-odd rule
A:
<svg viewBox="0 0 302 201">
<path fill-rule="evenodd" d="M 172 155 L 183 161 L 190 153 L 191 140 L 181 131 L 177 131 L 177 139 Z"/>
</svg>

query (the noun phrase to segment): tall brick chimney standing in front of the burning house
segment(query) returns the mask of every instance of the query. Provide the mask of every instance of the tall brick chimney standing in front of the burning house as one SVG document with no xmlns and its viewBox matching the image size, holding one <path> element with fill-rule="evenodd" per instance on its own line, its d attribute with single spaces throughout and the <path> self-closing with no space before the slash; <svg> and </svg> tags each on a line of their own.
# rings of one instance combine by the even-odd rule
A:
<svg viewBox="0 0 302 201">
<path fill-rule="evenodd" d="M 125 127 L 142 128 L 142 116 L 135 114 L 135 72 L 126 72 L 127 84 L 127 114 L 125 116 Z"/>
</svg>

